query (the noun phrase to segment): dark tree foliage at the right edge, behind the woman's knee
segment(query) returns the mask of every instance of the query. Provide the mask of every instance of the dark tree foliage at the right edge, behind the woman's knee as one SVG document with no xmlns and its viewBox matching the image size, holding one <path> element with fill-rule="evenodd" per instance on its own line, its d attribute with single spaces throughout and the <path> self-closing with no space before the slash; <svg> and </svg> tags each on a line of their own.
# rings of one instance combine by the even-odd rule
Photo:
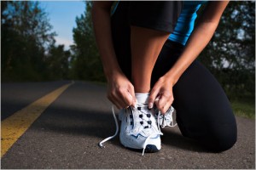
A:
<svg viewBox="0 0 256 170">
<path fill-rule="evenodd" d="M 255 2 L 231 1 L 201 61 L 230 98 L 255 95 Z"/>
</svg>

